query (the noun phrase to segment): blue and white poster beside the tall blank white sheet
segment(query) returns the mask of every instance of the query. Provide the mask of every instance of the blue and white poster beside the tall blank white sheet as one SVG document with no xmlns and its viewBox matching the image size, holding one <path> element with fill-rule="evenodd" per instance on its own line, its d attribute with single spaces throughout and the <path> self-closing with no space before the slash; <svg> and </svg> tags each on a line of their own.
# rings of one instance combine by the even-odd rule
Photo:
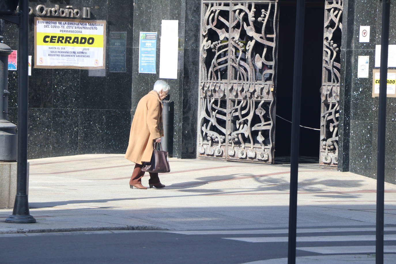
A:
<svg viewBox="0 0 396 264">
<path fill-rule="evenodd" d="M 140 32 L 139 72 L 156 73 L 157 32 Z"/>
</svg>

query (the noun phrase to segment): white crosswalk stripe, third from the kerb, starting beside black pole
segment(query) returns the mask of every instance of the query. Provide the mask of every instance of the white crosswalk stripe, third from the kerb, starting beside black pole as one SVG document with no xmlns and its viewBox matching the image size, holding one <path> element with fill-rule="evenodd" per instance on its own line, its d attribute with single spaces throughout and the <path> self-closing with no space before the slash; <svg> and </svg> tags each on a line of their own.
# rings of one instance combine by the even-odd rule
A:
<svg viewBox="0 0 396 264">
<path fill-rule="evenodd" d="M 297 247 L 296 249 L 320 254 L 342 253 L 374 253 L 375 246 L 343 246 L 343 247 Z M 385 253 L 396 253 L 396 246 L 384 246 Z"/>
</svg>

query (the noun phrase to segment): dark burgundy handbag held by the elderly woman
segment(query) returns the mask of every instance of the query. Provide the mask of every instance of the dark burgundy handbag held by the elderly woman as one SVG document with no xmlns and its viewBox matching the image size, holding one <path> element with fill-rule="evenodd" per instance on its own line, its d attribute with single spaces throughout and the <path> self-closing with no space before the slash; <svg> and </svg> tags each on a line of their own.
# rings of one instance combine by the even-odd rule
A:
<svg viewBox="0 0 396 264">
<path fill-rule="evenodd" d="M 158 148 L 158 150 L 156 149 Z M 142 171 L 154 173 L 166 173 L 171 171 L 168 161 L 168 152 L 162 150 L 160 142 L 154 142 L 154 148 L 150 162 L 143 162 Z"/>
</svg>

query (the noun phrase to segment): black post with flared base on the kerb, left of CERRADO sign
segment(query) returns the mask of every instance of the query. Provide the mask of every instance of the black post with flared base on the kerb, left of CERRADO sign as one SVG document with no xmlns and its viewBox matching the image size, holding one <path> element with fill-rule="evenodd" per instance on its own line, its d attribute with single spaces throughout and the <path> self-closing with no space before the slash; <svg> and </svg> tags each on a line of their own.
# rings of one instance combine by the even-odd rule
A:
<svg viewBox="0 0 396 264">
<path fill-rule="evenodd" d="M 20 11 L 13 15 L 18 0 L 3 0 L 0 3 L 0 18 L 19 25 L 17 194 L 12 215 L 6 222 L 35 223 L 36 219 L 29 213 L 27 196 L 29 5 L 28 0 L 19 0 Z"/>
</svg>

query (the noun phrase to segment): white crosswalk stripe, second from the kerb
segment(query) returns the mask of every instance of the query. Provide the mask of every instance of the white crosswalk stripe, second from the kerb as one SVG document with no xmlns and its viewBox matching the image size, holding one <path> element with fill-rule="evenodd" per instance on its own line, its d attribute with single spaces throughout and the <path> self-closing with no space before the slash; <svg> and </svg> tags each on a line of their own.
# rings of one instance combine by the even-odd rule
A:
<svg viewBox="0 0 396 264">
<path fill-rule="evenodd" d="M 287 242 L 288 240 L 288 237 L 222 237 L 222 238 L 252 242 L 252 243 Z M 396 240 L 396 234 L 384 235 L 384 240 Z M 319 241 L 375 241 L 375 235 L 297 237 L 297 242 L 319 242 Z"/>
</svg>

